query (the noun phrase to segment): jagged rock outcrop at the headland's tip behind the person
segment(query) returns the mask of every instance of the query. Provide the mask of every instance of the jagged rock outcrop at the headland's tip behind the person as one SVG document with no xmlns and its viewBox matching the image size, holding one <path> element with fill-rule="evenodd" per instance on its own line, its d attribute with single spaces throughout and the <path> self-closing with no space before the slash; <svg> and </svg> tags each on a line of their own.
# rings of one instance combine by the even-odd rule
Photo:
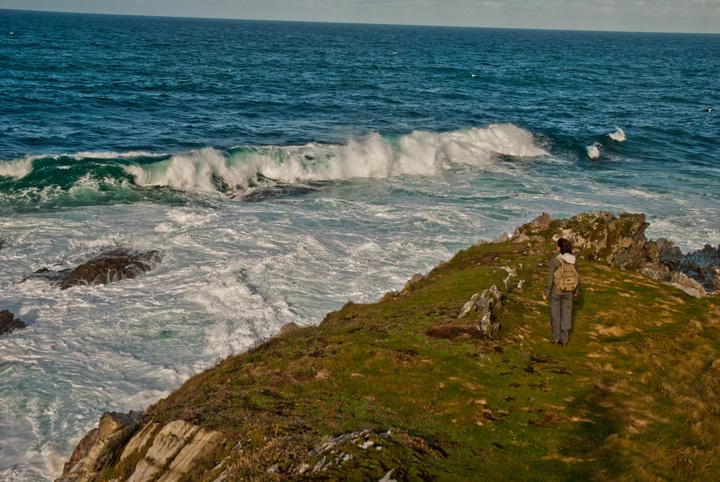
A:
<svg viewBox="0 0 720 482">
<path fill-rule="evenodd" d="M 644 214 L 582 213 L 566 220 L 552 220 L 543 213 L 516 229 L 511 241 L 544 242 L 563 237 L 586 259 L 639 271 L 692 296 L 720 290 L 720 247 L 706 246 L 701 251 L 682 254 L 667 239 L 648 240 L 647 227 Z"/>
</svg>

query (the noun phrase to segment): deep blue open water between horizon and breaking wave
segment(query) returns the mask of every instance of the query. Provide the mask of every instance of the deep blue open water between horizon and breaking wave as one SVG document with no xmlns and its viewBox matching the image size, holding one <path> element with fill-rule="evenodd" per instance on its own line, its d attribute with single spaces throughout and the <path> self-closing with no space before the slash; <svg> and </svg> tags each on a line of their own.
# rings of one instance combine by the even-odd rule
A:
<svg viewBox="0 0 720 482">
<path fill-rule="evenodd" d="M 578 163 L 621 126 L 610 154 L 702 170 L 718 162 L 718 71 L 717 35 L 2 11 L 0 159 L 508 122 Z"/>
</svg>

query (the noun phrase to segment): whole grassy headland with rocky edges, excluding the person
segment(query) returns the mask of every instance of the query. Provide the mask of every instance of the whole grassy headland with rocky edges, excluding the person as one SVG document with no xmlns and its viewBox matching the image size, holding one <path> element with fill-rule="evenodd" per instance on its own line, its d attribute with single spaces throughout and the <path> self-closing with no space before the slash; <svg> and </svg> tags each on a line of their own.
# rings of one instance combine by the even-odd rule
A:
<svg viewBox="0 0 720 482">
<path fill-rule="evenodd" d="M 683 255 L 646 228 L 540 216 L 145 413 L 104 415 L 59 480 L 712 480 L 717 250 Z M 541 297 L 560 236 L 584 288 L 566 347 Z"/>
</svg>

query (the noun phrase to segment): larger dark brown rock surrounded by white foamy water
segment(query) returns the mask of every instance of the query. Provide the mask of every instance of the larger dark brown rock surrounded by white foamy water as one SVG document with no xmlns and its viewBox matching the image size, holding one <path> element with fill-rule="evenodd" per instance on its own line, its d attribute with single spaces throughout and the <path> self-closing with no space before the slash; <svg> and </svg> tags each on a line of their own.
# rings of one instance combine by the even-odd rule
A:
<svg viewBox="0 0 720 482">
<path fill-rule="evenodd" d="M 162 254 L 159 251 L 137 252 L 127 249 L 115 249 L 102 253 L 74 269 L 53 271 L 42 268 L 25 278 L 41 278 L 56 284 L 60 289 L 78 285 L 100 285 L 132 279 L 151 271 L 160 264 Z M 23 281 L 25 281 L 23 280 Z"/>
</svg>

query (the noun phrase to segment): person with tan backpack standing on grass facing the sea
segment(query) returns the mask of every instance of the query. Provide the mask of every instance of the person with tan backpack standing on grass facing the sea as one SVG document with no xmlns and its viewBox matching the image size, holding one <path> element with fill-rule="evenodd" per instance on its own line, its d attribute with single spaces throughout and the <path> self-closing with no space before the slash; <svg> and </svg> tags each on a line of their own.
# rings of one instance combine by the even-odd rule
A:
<svg viewBox="0 0 720 482">
<path fill-rule="evenodd" d="M 580 288 L 580 275 L 570 241 L 558 239 L 556 252 L 558 254 L 550 259 L 544 298 L 550 299 L 552 342 L 567 345 L 572 333 L 572 304 Z"/>
</svg>

